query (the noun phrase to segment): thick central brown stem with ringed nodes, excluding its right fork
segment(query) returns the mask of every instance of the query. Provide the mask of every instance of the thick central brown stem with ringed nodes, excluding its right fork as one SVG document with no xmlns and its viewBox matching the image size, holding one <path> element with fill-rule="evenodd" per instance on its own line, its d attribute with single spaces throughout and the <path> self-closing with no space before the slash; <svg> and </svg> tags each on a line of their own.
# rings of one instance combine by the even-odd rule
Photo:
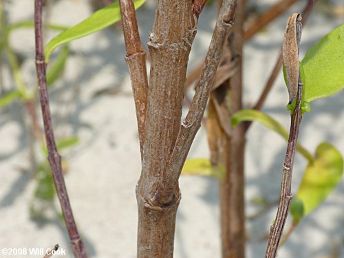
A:
<svg viewBox="0 0 344 258">
<path fill-rule="evenodd" d="M 138 200 L 138 257 L 173 257 L 178 185 L 167 203 L 153 203 L 175 145 L 182 116 L 186 67 L 197 17 L 192 1 L 159 0 L 149 35 L 151 73 Z"/>
</svg>

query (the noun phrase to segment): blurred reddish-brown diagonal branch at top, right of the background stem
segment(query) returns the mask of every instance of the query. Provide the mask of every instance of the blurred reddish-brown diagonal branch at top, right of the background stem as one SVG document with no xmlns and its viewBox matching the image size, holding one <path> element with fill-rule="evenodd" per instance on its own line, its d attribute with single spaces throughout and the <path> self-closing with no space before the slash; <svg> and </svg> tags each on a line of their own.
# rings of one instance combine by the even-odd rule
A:
<svg viewBox="0 0 344 258">
<path fill-rule="evenodd" d="M 275 3 L 274 6 L 250 23 L 250 27 L 244 33 L 244 41 L 251 39 L 259 30 L 266 27 L 266 25 L 283 14 L 283 12 L 286 12 L 286 10 L 296 1 L 297 0 L 281 0 Z"/>
</svg>

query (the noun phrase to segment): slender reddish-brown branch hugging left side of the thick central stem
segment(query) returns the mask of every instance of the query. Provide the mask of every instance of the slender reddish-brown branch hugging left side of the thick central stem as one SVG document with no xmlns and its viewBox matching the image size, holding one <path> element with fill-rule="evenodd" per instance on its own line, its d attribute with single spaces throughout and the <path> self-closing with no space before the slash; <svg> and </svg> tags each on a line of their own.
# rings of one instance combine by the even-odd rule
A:
<svg viewBox="0 0 344 258">
<path fill-rule="evenodd" d="M 133 88 L 142 158 L 148 94 L 146 52 L 141 45 L 133 1 L 120 0 L 120 13 L 122 16 L 123 35 L 125 36 L 125 48 L 127 50 L 125 61 L 127 61 L 131 87 Z"/>
</svg>

